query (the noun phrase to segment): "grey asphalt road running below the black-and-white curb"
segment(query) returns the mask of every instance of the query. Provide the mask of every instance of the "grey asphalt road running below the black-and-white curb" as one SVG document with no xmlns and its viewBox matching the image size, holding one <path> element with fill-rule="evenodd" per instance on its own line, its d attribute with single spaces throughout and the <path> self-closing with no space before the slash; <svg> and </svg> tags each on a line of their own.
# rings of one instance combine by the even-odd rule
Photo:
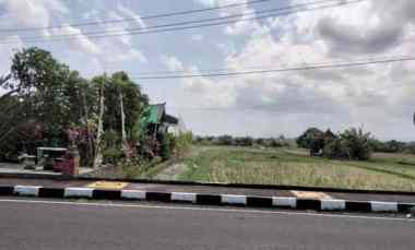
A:
<svg viewBox="0 0 415 250">
<path fill-rule="evenodd" d="M 0 200 L 0 249 L 415 249 L 415 222 Z"/>
</svg>

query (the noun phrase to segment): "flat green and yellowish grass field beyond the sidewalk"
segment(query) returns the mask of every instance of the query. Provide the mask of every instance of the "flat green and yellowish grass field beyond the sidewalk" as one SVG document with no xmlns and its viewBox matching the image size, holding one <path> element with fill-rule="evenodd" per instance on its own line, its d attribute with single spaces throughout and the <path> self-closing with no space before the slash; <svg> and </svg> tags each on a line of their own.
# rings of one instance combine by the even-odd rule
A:
<svg viewBox="0 0 415 250">
<path fill-rule="evenodd" d="M 178 180 L 415 191 L 415 155 L 375 154 L 369 162 L 310 157 L 293 148 L 194 147 Z"/>
</svg>

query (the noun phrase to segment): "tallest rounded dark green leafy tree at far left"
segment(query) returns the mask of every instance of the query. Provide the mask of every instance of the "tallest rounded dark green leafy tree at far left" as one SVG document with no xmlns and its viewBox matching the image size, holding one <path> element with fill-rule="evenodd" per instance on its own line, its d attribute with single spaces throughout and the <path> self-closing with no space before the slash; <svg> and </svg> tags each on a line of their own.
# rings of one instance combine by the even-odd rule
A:
<svg viewBox="0 0 415 250">
<path fill-rule="evenodd" d="M 64 132 L 79 123 L 83 115 L 78 72 L 57 61 L 50 52 L 32 47 L 17 51 L 12 58 L 13 81 L 3 87 L 23 100 L 24 112 L 44 124 L 49 143 L 64 144 Z"/>
</svg>

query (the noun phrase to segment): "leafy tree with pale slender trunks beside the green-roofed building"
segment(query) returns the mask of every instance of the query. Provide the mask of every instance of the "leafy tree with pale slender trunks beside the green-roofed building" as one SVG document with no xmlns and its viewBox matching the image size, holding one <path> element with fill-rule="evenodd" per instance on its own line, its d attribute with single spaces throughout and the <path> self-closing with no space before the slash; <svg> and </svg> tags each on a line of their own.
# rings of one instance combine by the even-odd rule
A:
<svg viewBox="0 0 415 250">
<path fill-rule="evenodd" d="M 108 76 L 98 75 L 93 79 L 93 85 L 98 90 L 98 116 L 97 116 L 97 138 L 95 154 L 96 163 L 102 159 L 100 152 L 115 152 L 122 148 L 126 157 L 131 154 L 130 141 L 138 140 L 137 133 L 140 116 L 149 105 L 149 97 L 141 92 L 138 84 L 132 82 L 124 72 L 117 72 Z M 102 136 L 105 131 L 115 131 L 116 145 L 105 144 Z"/>
</svg>

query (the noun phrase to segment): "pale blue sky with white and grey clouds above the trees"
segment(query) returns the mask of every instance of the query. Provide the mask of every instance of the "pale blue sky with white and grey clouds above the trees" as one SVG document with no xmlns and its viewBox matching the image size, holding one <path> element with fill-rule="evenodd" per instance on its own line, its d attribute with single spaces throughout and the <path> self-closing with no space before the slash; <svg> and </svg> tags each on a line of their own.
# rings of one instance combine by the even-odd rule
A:
<svg viewBox="0 0 415 250">
<path fill-rule="evenodd" d="M 134 79 L 168 71 L 199 74 L 227 69 L 240 72 L 415 56 L 413 0 L 393 3 L 366 0 L 331 9 L 166 33 L 99 39 L 87 35 L 94 31 L 128 31 L 260 13 L 315 1 L 0 0 L 0 29 L 3 29 L 0 33 L 0 74 L 10 71 L 13 51 L 29 46 L 51 51 L 54 57 L 85 78 L 120 70 Z M 191 15 L 145 19 L 230 3 L 242 4 Z M 130 22 L 103 23 L 120 19 Z M 98 25 L 74 25 L 82 22 L 97 22 Z M 61 27 L 15 31 L 54 25 Z M 66 34 L 82 38 L 25 40 L 31 36 L 47 38 Z M 284 134 L 293 138 L 309 127 L 332 131 L 363 127 L 381 140 L 414 141 L 414 70 L 415 62 L 405 61 L 238 76 L 135 81 L 152 103 L 166 102 L 167 111 L 182 118 L 195 134 Z"/>
</svg>

